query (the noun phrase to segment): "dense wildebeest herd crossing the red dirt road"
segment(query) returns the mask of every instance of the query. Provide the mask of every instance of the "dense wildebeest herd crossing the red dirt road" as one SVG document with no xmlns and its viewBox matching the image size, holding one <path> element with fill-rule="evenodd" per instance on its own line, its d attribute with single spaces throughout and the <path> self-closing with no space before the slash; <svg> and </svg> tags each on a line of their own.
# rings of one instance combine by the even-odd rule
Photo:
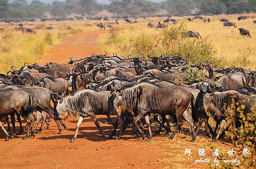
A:
<svg viewBox="0 0 256 169">
<path fill-rule="evenodd" d="M 202 71 L 204 80 L 186 83 L 191 71 Z M 191 128 L 192 142 L 203 122 L 205 130 L 208 132 L 209 129 L 212 135 L 212 141 L 216 141 L 228 123 L 227 118 L 231 119 L 233 134 L 239 138 L 235 129 L 241 126 L 242 119 L 237 108 L 243 106 L 244 115 L 251 112 L 250 107 L 255 104 L 255 87 L 256 70 L 235 66 L 216 68 L 209 62 L 191 65 L 180 56 L 142 54 L 142 57 L 129 55 L 126 58 L 117 54 L 107 56 L 105 52 L 79 60 L 70 58 L 67 64 L 51 62 L 40 66 L 25 63 L 18 70 L 12 67 L 6 75 L 0 74 L 0 119 L 5 117 L 9 124 L 8 115 L 11 116 L 15 136 L 15 115 L 20 122 L 18 134 L 24 130 L 21 115 L 27 122 L 26 139 L 41 132 L 45 123 L 49 127 L 48 115 L 56 122 L 59 134 L 61 125 L 67 128 L 62 120 L 70 116 L 79 117 L 71 139 L 73 142 L 85 117 L 94 121 L 104 138 L 96 115 L 106 115 L 114 127 L 109 138 L 113 138 L 120 124 L 116 139 L 129 125 L 135 135 L 144 139 L 146 124 L 149 141 L 152 138 L 153 115 L 160 125 L 156 133 L 160 133 L 162 128 L 167 133 L 171 132 L 169 123 L 172 117 L 176 127 L 170 139 L 174 138 L 185 120 Z M 243 105 L 236 104 L 240 102 Z M 229 110 L 233 104 L 235 109 L 231 113 Z M 36 111 L 36 119 L 33 111 Z M 216 122 L 214 130 L 208 123 L 208 113 Z M 117 115 L 115 122 L 111 118 L 113 115 Z M 36 130 L 41 120 L 42 125 Z M 9 132 L 1 122 L 0 125 L 8 141 Z"/>
</svg>

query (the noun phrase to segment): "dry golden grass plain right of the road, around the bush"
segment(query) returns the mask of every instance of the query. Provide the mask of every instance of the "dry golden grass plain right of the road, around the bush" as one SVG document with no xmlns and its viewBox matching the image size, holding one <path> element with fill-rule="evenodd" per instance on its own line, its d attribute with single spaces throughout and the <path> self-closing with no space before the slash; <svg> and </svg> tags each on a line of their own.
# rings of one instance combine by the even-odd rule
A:
<svg viewBox="0 0 256 169">
<path fill-rule="evenodd" d="M 250 14 L 250 16 L 256 14 Z M 194 22 L 187 21 L 188 17 L 173 17 L 178 20 L 178 24 L 186 22 L 187 28 L 192 31 L 198 31 L 202 37 L 208 37 L 218 50 L 218 57 L 224 57 L 226 66 L 236 65 L 244 68 L 254 68 L 256 65 L 256 24 L 253 24 L 253 18 L 238 21 L 239 15 L 218 15 L 209 17 L 210 23 L 203 23 L 202 20 Z M 207 18 L 208 16 L 206 16 Z M 246 28 L 250 30 L 251 38 L 243 38 L 237 28 L 223 27 L 220 18 L 227 18 L 230 22 L 235 22 L 237 28 Z M 139 36 L 142 32 L 152 36 L 158 36 L 159 31 L 154 28 L 147 28 L 148 22 L 157 25 L 158 21 L 163 23 L 165 18 L 148 18 L 147 20 L 139 19 L 136 24 L 129 24 L 121 21 L 108 34 L 102 35 L 99 39 L 103 49 L 109 52 L 117 52 L 127 56 L 131 54 L 131 49 L 127 44 L 131 38 Z M 172 25 L 172 23 L 169 23 Z"/>
</svg>

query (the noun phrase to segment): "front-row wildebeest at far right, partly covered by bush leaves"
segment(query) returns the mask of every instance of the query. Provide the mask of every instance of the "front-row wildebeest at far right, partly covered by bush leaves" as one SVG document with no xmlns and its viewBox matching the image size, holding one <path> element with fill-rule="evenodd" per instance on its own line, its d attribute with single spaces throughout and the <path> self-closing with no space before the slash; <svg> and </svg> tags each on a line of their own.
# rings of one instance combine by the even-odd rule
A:
<svg viewBox="0 0 256 169">
<path fill-rule="evenodd" d="M 240 118 L 239 109 L 241 106 L 244 106 L 243 114 L 246 116 L 247 113 L 251 112 L 250 108 L 255 104 L 255 98 L 243 95 L 236 90 L 227 90 L 224 92 L 216 91 L 215 93 L 207 93 L 208 91 L 211 91 L 211 89 L 209 90 L 209 87 L 207 89 L 203 88 L 198 94 L 195 106 L 195 109 L 197 110 L 195 121 L 198 121 L 198 118 L 205 118 L 205 116 L 207 116 L 205 112 L 210 112 L 213 117 L 217 116 L 221 119 L 218 134 L 212 139 L 214 142 L 218 140 L 218 137 L 226 124 L 226 118 L 230 118 L 233 134 L 240 140 L 239 135 L 236 133 L 236 122 L 242 120 Z M 228 111 L 231 110 L 231 107 L 234 107 L 232 110 L 235 114 Z M 200 125 L 198 127 L 200 127 Z"/>
</svg>

